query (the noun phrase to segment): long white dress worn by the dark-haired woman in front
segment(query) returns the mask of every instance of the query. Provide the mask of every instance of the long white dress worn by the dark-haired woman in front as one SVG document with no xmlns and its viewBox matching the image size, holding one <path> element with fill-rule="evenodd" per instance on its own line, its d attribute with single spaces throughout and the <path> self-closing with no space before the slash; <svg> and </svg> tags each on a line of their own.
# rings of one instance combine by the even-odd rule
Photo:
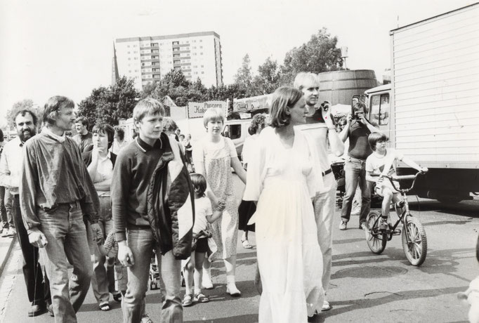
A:
<svg viewBox="0 0 479 323">
<path fill-rule="evenodd" d="M 322 253 L 311 197 L 317 190 L 310 148 L 301 131 L 285 148 L 273 128 L 265 128 L 249 160 L 243 199 L 258 201 L 258 266 L 263 284 L 259 322 L 307 322 L 320 312 Z"/>
</svg>

